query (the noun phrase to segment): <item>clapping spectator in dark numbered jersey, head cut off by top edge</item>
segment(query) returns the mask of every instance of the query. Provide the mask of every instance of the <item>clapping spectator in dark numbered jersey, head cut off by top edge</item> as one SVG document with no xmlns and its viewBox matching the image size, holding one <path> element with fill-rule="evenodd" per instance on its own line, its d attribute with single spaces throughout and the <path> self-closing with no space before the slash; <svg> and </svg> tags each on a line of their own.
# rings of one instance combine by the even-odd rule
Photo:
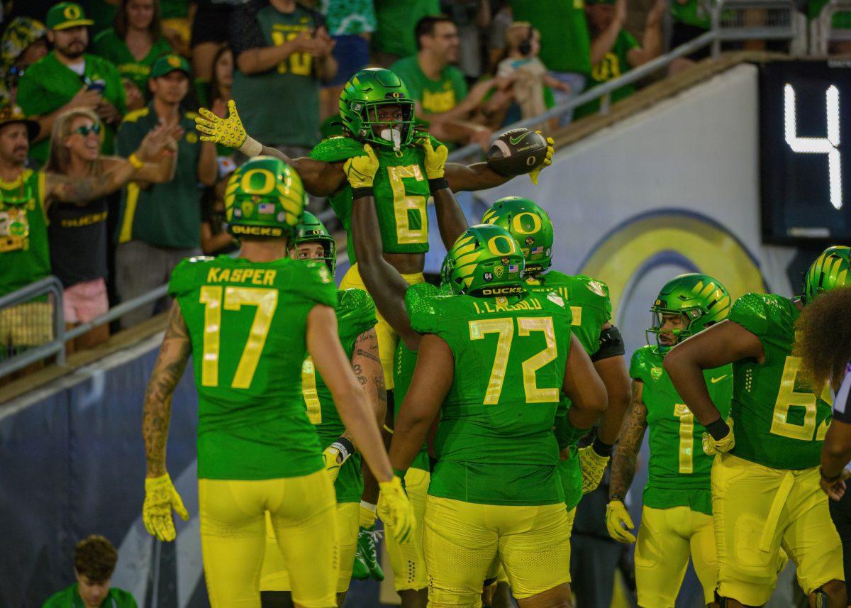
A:
<svg viewBox="0 0 851 608">
<path fill-rule="evenodd" d="M 233 98 L 249 133 L 290 158 L 319 141 L 319 88 L 337 73 L 323 16 L 295 0 L 250 0 L 234 10 Z"/>
</svg>

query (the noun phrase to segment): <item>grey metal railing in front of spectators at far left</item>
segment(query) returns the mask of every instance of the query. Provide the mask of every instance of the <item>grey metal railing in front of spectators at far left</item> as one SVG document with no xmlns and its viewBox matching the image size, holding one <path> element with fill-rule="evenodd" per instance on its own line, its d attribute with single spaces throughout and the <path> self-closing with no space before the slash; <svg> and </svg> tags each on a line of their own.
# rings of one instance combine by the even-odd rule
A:
<svg viewBox="0 0 851 608">
<path fill-rule="evenodd" d="M 41 345 L 27 348 L 21 353 L 14 354 L 12 357 L 0 361 L 0 378 L 9 376 L 15 371 L 24 369 L 27 365 L 41 361 L 44 358 L 56 357 L 56 364 L 65 364 L 65 343 L 74 340 L 79 336 L 83 336 L 87 331 L 95 327 L 107 323 L 111 323 L 115 319 L 121 317 L 138 307 L 145 306 L 152 301 L 157 301 L 164 295 L 168 294 L 168 284 L 160 285 L 155 290 L 151 290 L 146 294 L 139 295 L 133 299 L 122 302 L 116 307 L 112 307 L 100 317 L 94 318 L 88 323 L 79 324 L 76 327 L 66 330 L 65 314 L 62 309 L 62 284 L 60 280 L 54 276 L 43 278 L 33 284 L 27 285 L 20 290 L 13 291 L 8 295 L 0 297 L 0 314 L 15 306 L 31 301 L 33 298 L 43 295 L 53 297 L 53 339 Z"/>
</svg>

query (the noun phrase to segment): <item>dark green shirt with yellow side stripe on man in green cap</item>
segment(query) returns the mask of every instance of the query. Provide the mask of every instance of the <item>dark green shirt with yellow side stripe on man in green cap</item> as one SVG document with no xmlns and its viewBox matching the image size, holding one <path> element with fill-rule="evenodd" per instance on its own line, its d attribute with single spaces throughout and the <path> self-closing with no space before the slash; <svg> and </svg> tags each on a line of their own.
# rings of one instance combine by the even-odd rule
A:
<svg viewBox="0 0 851 608">
<path fill-rule="evenodd" d="M 134 181 L 123 188 L 118 221 L 118 243 L 142 241 L 168 249 L 196 249 L 201 243 L 201 195 L 198 187 L 198 159 L 201 141 L 195 130 L 194 112 L 183 112 L 180 126 L 184 135 L 177 145 L 174 179 L 142 189 Z M 117 152 L 129 157 L 159 118 L 153 102 L 130 112 L 118 129 Z"/>
</svg>

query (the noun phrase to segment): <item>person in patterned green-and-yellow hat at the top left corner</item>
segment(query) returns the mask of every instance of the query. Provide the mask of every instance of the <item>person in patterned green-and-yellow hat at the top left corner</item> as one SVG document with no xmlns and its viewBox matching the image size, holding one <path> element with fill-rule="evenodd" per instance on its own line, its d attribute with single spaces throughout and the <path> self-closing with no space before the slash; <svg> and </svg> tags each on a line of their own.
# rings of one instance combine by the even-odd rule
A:
<svg viewBox="0 0 851 608">
<path fill-rule="evenodd" d="M 48 31 L 41 21 L 15 17 L 0 38 L 0 100 L 15 103 L 18 79 L 48 54 Z"/>
</svg>

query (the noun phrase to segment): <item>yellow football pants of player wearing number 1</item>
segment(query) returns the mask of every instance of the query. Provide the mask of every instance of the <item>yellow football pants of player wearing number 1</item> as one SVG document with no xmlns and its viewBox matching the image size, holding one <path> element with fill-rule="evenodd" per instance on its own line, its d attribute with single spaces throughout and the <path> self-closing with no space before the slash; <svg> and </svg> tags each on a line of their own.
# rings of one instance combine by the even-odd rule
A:
<svg viewBox="0 0 851 608">
<path fill-rule="evenodd" d="M 688 507 L 642 509 L 636 542 L 636 586 L 642 608 L 673 608 L 688 557 L 703 586 L 706 604 L 715 601 L 718 560 L 712 516 Z"/>
</svg>

